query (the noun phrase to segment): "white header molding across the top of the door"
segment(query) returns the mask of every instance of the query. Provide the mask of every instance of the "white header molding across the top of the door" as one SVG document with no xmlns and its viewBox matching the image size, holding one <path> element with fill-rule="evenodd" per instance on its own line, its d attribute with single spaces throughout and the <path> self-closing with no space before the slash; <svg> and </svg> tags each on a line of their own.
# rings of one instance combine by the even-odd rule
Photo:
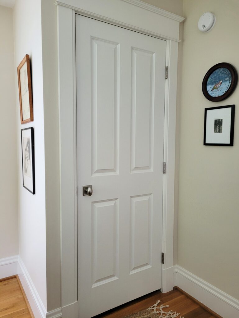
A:
<svg viewBox="0 0 239 318">
<path fill-rule="evenodd" d="M 77 0 L 56 0 L 55 5 L 155 38 L 180 42 L 179 23 L 184 17 L 140 0 L 81 0 L 80 4 Z"/>
</svg>

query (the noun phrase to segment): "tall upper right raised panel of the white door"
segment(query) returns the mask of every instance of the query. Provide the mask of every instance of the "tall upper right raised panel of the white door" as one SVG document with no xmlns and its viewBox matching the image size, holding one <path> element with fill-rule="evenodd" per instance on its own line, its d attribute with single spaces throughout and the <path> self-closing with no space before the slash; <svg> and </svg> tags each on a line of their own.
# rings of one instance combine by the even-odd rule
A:
<svg viewBox="0 0 239 318">
<path fill-rule="evenodd" d="M 132 48 L 131 172 L 153 169 L 155 52 Z"/>
</svg>

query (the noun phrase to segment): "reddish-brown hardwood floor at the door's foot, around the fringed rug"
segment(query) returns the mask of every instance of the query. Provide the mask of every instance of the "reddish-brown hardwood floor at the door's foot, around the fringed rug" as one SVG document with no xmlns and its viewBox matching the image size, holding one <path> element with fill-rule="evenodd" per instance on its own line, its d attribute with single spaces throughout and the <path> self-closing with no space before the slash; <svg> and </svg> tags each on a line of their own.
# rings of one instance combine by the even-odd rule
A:
<svg viewBox="0 0 239 318">
<path fill-rule="evenodd" d="M 220 318 L 218 315 L 208 312 L 202 308 L 199 303 L 193 301 L 178 289 L 172 290 L 169 293 L 162 294 L 160 291 L 153 292 L 127 304 L 114 308 L 105 312 L 104 314 L 97 315 L 94 318 L 122 318 L 126 315 L 137 313 L 141 310 L 147 309 L 157 300 L 160 304 L 169 305 L 165 311 L 176 311 L 184 318 Z M 178 317 L 180 317 L 180 315 Z"/>
</svg>

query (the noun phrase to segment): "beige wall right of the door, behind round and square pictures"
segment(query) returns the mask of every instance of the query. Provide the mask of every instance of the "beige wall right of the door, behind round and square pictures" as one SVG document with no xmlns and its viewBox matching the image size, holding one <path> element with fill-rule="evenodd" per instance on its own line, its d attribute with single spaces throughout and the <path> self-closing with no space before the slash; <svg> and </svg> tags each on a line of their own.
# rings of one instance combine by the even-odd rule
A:
<svg viewBox="0 0 239 318">
<path fill-rule="evenodd" d="M 216 15 L 214 29 L 197 29 L 205 11 Z M 210 102 L 202 79 L 216 63 L 239 71 L 238 0 L 184 1 L 178 265 L 239 299 L 239 88 Z M 234 146 L 203 146 L 204 108 L 235 104 Z"/>
</svg>

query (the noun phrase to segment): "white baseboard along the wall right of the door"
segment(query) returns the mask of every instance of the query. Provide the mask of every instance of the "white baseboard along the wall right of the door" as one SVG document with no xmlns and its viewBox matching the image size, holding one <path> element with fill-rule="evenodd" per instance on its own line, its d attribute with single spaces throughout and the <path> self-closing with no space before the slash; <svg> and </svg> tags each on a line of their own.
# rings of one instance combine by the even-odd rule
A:
<svg viewBox="0 0 239 318">
<path fill-rule="evenodd" d="M 223 318 L 239 317 L 239 300 L 178 265 L 174 266 L 174 286 L 181 288 Z"/>
</svg>

